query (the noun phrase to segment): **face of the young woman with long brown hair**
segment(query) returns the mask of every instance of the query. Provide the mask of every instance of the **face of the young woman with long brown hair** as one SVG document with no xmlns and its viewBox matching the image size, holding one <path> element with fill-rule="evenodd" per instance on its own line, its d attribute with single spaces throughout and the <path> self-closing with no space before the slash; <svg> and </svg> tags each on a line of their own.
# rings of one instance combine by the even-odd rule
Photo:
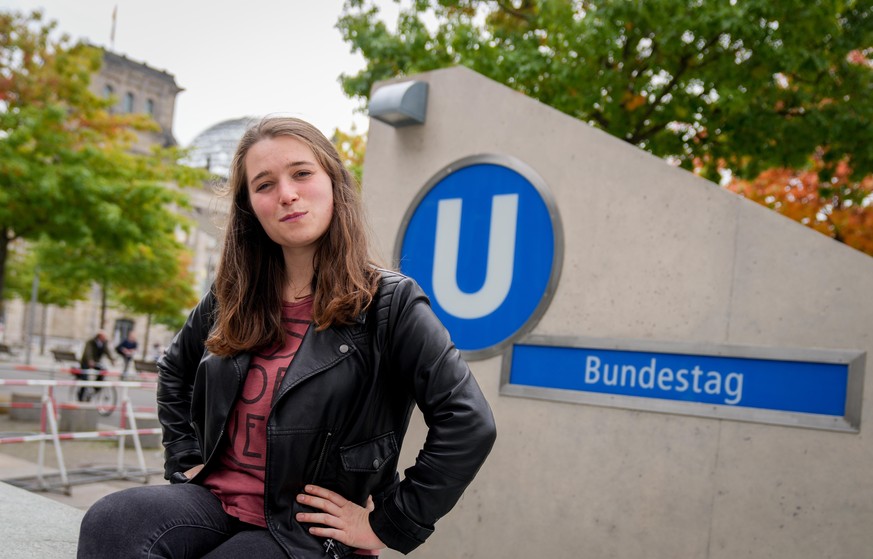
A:
<svg viewBox="0 0 873 559">
<path fill-rule="evenodd" d="M 296 138 L 260 140 L 245 157 L 252 209 L 286 255 L 312 256 L 333 217 L 333 187 L 312 150 Z"/>
</svg>

